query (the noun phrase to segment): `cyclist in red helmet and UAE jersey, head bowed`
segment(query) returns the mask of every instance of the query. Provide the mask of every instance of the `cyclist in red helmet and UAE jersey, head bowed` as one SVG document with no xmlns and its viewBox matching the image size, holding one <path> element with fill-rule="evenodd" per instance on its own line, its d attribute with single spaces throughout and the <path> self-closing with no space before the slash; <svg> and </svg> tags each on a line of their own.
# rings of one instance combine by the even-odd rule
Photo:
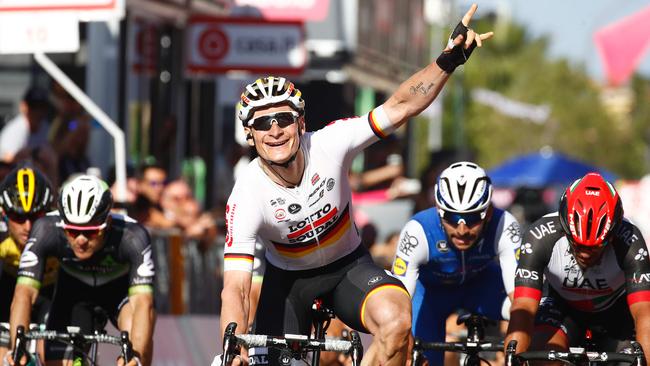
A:
<svg viewBox="0 0 650 366">
<path fill-rule="evenodd" d="M 573 182 L 559 211 L 533 223 L 522 243 L 506 344 L 567 350 L 590 329 L 601 351 L 636 339 L 648 357 L 648 249 L 609 182 L 596 173 Z"/>
</svg>

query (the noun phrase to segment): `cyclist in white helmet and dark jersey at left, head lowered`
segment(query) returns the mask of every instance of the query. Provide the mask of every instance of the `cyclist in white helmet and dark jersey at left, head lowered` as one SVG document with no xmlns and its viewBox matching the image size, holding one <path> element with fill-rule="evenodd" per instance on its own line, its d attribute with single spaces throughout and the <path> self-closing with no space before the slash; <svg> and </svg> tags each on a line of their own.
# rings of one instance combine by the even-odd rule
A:
<svg viewBox="0 0 650 366">
<path fill-rule="evenodd" d="M 59 214 L 36 222 L 20 258 L 11 329 L 29 323 L 45 259 L 54 256 L 61 270 L 48 329 L 65 331 L 74 325 L 89 333 L 99 307 L 118 329 L 129 331 L 138 358 L 129 365 L 150 365 L 155 271 L 149 235 L 133 219 L 111 214 L 112 205 L 108 186 L 96 177 L 78 176 L 63 186 Z M 12 342 L 14 336 L 12 331 Z M 48 361 L 71 356 L 69 347 L 46 344 Z"/>
</svg>

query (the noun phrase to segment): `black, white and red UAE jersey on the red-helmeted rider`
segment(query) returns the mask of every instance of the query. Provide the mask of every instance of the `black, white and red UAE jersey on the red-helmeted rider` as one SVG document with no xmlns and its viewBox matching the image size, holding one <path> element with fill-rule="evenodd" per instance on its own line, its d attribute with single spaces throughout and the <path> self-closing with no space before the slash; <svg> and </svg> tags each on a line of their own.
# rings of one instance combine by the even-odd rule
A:
<svg viewBox="0 0 650 366">
<path fill-rule="evenodd" d="M 546 282 L 570 306 L 585 312 L 605 310 L 621 296 L 627 296 L 630 305 L 650 301 L 648 248 L 639 229 L 627 220 L 609 240 L 601 259 L 586 269 L 573 257 L 557 212 L 530 226 L 520 253 L 515 298 L 539 301 Z"/>
</svg>

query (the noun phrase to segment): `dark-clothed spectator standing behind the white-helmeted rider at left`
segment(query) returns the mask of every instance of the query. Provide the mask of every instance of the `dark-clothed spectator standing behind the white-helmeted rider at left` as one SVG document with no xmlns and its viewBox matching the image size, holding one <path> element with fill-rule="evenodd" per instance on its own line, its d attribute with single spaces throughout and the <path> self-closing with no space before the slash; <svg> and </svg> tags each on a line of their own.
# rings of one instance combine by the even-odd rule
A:
<svg viewBox="0 0 650 366">
<path fill-rule="evenodd" d="M 53 88 L 57 115 L 48 138 L 59 156 L 59 179 L 63 182 L 74 173 L 90 167 L 86 155 L 90 141 L 91 118 L 83 107 L 59 84 Z"/>
</svg>

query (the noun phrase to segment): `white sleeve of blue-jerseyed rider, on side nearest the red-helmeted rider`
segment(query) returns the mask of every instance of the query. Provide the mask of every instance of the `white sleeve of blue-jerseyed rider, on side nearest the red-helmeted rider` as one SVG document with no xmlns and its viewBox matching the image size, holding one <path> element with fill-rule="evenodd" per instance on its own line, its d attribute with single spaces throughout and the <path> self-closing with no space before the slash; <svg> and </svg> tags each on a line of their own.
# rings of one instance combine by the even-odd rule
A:
<svg viewBox="0 0 650 366">
<path fill-rule="evenodd" d="M 521 246 L 521 227 L 512 214 L 505 211 L 497 230 L 497 255 L 501 265 L 501 276 L 506 293 L 510 294 L 515 289 L 515 270 L 517 270 L 516 252 Z"/>
</svg>

